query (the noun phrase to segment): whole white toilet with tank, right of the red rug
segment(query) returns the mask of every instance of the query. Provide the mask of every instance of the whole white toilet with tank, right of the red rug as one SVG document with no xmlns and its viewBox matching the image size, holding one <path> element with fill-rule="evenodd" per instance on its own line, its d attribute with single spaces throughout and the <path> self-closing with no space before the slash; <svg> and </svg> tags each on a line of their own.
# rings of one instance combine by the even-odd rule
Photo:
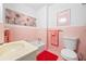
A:
<svg viewBox="0 0 86 64">
<path fill-rule="evenodd" d="M 77 47 L 76 37 L 63 37 L 63 49 L 61 50 L 61 56 L 65 61 L 77 61 L 77 53 L 75 52 Z"/>
</svg>

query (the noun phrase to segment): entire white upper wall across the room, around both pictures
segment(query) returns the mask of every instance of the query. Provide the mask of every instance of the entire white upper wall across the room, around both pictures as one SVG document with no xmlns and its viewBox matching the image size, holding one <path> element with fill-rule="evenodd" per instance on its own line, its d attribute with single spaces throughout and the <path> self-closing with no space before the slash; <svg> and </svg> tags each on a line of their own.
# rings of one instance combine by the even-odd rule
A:
<svg viewBox="0 0 86 64">
<path fill-rule="evenodd" d="M 86 26 L 86 5 L 77 3 L 56 3 L 44 5 L 38 10 L 34 10 L 27 4 L 19 3 L 4 4 L 3 7 L 36 17 L 37 27 L 40 28 L 46 28 L 47 22 L 49 27 L 57 27 L 58 13 L 63 10 L 71 9 L 71 26 Z"/>
</svg>

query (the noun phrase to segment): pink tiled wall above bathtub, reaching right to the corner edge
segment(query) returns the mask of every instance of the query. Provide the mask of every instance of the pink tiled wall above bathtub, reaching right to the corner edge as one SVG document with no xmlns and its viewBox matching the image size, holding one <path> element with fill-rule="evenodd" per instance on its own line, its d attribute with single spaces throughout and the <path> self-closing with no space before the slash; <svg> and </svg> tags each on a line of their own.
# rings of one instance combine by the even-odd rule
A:
<svg viewBox="0 0 86 64">
<path fill-rule="evenodd" d="M 37 40 L 41 38 L 44 42 L 46 41 L 46 30 L 36 28 L 36 27 L 27 27 L 27 26 L 19 26 L 19 25 L 8 25 L 11 31 L 11 40 Z"/>
</svg>

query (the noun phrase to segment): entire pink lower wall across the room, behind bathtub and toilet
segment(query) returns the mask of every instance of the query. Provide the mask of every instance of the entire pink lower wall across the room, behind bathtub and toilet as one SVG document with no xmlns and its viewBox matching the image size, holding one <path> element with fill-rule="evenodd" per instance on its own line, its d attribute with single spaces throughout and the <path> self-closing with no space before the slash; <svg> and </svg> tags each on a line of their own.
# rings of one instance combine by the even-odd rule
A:
<svg viewBox="0 0 86 64">
<path fill-rule="evenodd" d="M 12 33 L 13 40 L 36 40 L 41 38 L 42 41 L 47 41 L 47 31 L 46 29 L 25 27 L 25 26 L 9 26 Z M 79 38 L 78 54 L 82 53 L 83 60 L 86 60 L 86 27 L 85 26 L 66 26 L 57 28 L 63 30 L 60 33 L 60 43 L 59 47 L 53 47 L 49 42 L 49 50 L 53 53 L 60 53 L 63 48 L 62 36 L 73 36 Z M 54 29 L 49 29 L 54 30 Z M 48 38 L 50 41 L 50 37 Z M 81 56 L 81 55 L 79 55 Z"/>
</svg>

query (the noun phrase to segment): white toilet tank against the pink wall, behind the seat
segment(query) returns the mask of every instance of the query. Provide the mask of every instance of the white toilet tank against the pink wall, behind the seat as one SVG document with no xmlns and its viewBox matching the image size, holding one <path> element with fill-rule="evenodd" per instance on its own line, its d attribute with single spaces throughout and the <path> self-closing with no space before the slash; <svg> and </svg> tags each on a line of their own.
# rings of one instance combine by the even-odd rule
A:
<svg viewBox="0 0 86 64">
<path fill-rule="evenodd" d="M 77 37 L 63 37 L 63 47 L 71 50 L 76 50 Z"/>
</svg>

